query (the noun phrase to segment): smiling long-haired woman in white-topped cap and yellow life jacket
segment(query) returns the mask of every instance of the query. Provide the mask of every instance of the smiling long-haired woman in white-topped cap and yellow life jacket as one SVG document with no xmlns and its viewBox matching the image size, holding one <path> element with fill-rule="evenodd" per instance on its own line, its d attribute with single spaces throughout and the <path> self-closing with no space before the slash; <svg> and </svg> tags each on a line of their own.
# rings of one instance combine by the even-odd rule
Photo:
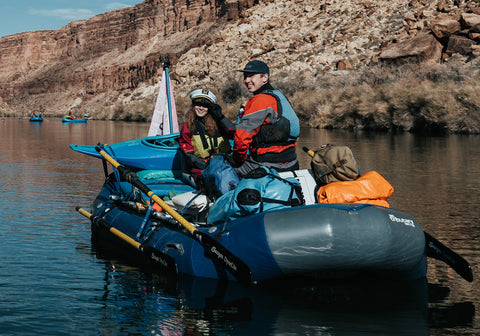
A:
<svg viewBox="0 0 480 336">
<path fill-rule="evenodd" d="M 231 151 L 229 138 L 233 123 L 222 114 L 217 97 L 205 89 L 190 93 L 192 107 L 180 131 L 180 148 L 185 154 L 185 170 L 196 182 L 213 154 Z"/>
</svg>

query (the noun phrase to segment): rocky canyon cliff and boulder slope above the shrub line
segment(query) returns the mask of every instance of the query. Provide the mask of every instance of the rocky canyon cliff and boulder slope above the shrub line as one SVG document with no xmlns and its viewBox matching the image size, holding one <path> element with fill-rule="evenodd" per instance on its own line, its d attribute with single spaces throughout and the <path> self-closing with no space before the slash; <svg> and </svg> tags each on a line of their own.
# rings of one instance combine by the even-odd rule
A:
<svg viewBox="0 0 480 336">
<path fill-rule="evenodd" d="M 165 56 L 185 96 L 234 80 L 252 58 L 295 81 L 377 62 L 467 62 L 479 43 L 478 0 L 146 0 L 0 39 L 0 102 L 111 118 L 99 111 L 154 99 Z"/>
</svg>

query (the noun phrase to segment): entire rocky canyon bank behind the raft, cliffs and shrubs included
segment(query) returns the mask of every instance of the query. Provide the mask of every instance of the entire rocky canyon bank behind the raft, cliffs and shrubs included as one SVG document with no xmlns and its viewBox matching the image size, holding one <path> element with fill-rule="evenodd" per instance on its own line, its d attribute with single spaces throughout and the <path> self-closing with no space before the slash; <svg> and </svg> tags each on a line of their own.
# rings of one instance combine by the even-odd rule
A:
<svg viewBox="0 0 480 336">
<path fill-rule="evenodd" d="M 471 0 L 147 0 L 1 38 L 0 114 L 149 120 L 166 56 L 180 119 L 197 87 L 233 117 L 258 58 L 305 126 L 480 133 Z"/>
</svg>

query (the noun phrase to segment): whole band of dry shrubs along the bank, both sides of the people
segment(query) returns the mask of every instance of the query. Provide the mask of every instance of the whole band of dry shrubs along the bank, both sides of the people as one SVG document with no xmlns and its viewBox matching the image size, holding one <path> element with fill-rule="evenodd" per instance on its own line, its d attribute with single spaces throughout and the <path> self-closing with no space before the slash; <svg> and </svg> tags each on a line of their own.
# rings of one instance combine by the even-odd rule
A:
<svg viewBox="0 0 480 336">
<path fill-rule="evenodd" d="M 302 126 L 480 133 L 479 73 L 480 60 L 468 64 L 370 65 L 308 79 L 278 73 L 272 77 L 272 85 L 292 101 Z M 211 90 L 232 121 L 237 118 L 240 104 L 251 96 L 235 75 L 219 79 Z M 190 99 L 175 99 L 182 124 Z M 100 119 L 149 121 L 154 100 L 135 98 L 128 103 L 106 103 L 99 99 L 89 112 Z"/>
</svg>

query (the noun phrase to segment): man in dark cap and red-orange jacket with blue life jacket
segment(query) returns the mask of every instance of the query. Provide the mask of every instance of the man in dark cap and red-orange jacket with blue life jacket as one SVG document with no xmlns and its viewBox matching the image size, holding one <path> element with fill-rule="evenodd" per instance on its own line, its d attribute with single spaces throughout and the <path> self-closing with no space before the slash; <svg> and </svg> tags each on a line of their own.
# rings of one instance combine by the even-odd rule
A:
<svg viewBox="0 0 480 336">
<path fill-rule="evenodd" d="M 244 84 L 253 94 L 235 129 L 233 161 L 237 174 L 266 166 L 275 170 L 299 169 L 296 146 L 300 123 L 292 105 L 269 82 L 270 69 L 262 61 L 247 63 Z"/>
</svg>

